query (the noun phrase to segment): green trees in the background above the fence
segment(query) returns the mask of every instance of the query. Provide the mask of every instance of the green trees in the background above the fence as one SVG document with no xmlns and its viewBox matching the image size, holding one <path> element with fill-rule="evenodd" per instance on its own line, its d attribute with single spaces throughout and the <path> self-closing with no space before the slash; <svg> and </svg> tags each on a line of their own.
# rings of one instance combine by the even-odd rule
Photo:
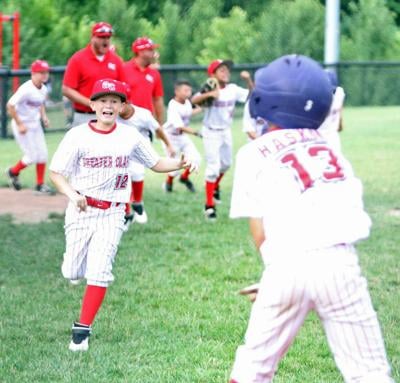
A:
<svg viewBox="0 0 400 383">
<path fill-rule="evenodd" d="M 21 14 L 21 66 L 34 59 L 65 65 L 87 44 L 91 25 L 114 25 L 124 59 L 139 35 L 161 44 L 164 64 L 207 63 L 229 57 L 265 62 L 285 53 L 323 59 L 323 0 L 9 0 L 1 12 Z M 397 0 L 341 1 L 342 60 L 400 60 Z M 4 60 L 11 58 L 11 25 L 4 24 Z"/>
</svg>

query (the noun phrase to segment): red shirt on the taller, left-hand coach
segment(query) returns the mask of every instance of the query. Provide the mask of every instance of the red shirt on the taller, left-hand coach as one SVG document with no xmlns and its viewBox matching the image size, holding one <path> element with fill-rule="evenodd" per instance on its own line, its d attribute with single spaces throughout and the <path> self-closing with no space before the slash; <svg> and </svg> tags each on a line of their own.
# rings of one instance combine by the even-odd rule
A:
<svg viewBox="0 0 400 383">
<path fill-rule="evenodd" d="M 103 78 L 125 81 L 123 61 L 111 51 L 108 51 L 103 61 L 100 61 L 89 44 L 86 48 L 74 53 L 68 60 L 63 85 L 90 97 L 94 83 Z M 76 102 L 73 103 L 73 108 L 80 112 L 91 111 L 88 106 Z"/>
</svg>

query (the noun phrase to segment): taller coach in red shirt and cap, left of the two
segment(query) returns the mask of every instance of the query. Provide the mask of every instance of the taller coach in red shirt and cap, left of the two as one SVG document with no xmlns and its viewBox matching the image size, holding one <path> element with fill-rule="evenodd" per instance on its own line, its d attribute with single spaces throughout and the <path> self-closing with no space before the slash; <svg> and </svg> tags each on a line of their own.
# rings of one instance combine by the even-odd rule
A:
<svg viewBox="0 0 400 383">
<path fill-rule="evenodd" d="M 68 60 L 62 92 L 72 101 L 74 119 L 72 126 L 90 121 L 94 112 L 89 97 L 94 83 L 103 78 L 124 81 L 123 61 L 110 50 L 112 26 L 105 22 L 92 28 L 90 43 L 74 53 Z"/>
</svg>

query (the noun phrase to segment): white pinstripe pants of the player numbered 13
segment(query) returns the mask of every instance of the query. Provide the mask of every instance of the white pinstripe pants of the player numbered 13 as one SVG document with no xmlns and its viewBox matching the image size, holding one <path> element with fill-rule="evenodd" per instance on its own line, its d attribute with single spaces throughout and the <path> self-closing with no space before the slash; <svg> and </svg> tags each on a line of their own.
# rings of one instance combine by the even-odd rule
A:
<svg viewBox="0 0 400 383">
<path fill-rule="evenodd" d="M 278 258 L 271 258 L 263 273 L 232 379 L 271 382 L 307 314 L 315 310 L 346 382 L 393 382 L 354 248 L 338 245 Z"/>
</svg>

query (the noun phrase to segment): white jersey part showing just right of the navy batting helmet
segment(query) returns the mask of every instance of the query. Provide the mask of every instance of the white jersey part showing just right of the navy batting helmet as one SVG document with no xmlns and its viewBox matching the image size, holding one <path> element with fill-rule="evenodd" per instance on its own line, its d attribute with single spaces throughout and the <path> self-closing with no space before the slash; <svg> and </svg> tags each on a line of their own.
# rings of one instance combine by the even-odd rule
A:
<svg viewBox="0 0 400 383">
<path fill-rule="evenodd" d="M 341 149 L 339 125 L 345 97 L 346 95 L 343 88 L 338 86 L 333 94 L 332 105 L 329 110 L 329 114 L 325 121 L 318 128 L 318 131 L 336 150 Z"/>
</svg>

